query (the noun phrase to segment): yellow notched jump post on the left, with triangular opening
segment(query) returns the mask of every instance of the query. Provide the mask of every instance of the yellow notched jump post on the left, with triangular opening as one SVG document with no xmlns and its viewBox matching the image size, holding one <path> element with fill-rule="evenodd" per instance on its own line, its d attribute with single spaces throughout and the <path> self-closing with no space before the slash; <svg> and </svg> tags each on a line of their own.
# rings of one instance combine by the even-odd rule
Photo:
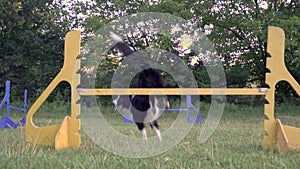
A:
<svg viewBox="0 0 300 169">
<path fill-rule="evenodd" d="M 79 114 L 80 105 L 76 104 L 76 99 L 79 99 L 76 87 L 80 83 L 80 75 L 74 75 L 74 72 L 76 72 L 80 66 L 80 63 L 76 59 L 79 54 L 80 31 L 71 31 L 67 33 L 65 38 L 63 68 L 27 113 L 27 142 L 37 145 L 55 146 L 57 149 L 79 146 L 80 135 L 78 134 L 78 130 L 80 129 L 80 122 L 77 116 Z M 71 117 L 66 117 L 62 125 L 37 127 L 32 120 L 34 114 L 49 97 L 55 87 L 62 81 L 68 82 L 71 86 Z M 66 142 L 66 140 L 68 141 Z"/>
</svg>

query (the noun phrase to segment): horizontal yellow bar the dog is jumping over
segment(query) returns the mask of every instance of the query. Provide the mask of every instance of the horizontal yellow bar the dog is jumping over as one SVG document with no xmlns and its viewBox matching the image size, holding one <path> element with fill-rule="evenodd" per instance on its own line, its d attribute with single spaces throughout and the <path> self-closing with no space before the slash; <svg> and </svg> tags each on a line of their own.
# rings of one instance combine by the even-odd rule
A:
<svg viewBox="0 0 300 169">
<path fill-rule="evenodd" d="M 109 88 L 77 89 L 79 95 L 265 95 L 267 88 Z"/>
</svg>

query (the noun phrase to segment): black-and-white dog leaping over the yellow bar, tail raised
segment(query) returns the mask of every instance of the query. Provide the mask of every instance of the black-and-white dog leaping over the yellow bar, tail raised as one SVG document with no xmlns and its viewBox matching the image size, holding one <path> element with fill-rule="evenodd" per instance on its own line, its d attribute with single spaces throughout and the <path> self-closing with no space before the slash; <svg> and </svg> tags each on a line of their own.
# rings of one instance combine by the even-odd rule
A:
<svg viewBox="0 0 300 169">
<path fill-rule="evenodd" d="M 116 47 L 124 54 L 124 56 L 134 55 L 137 60 L 141 59 L 130 47 L 123 42 L 122 38 L 118 35 L 111 33 L 111 39 L 116 42 Z M 145 62 L 145 61 L 142 61 Z M 166 83 L 160 72 L 154 68 L 143 68 L 138 74 L 138 88 L 164 88 Z M 132 113 L 133 120 L 142 134 L 142 138 L 147 140 L 147 132 L 145 124 L 150 124 L 156 136 L 161 140 L 157 118 L 160 115 L 160 107 L 169 108 L 169 102 L 166 96 L 157 95 L 132 95 L 132 96 L 118 96 L 113 100 L 113 105 L 118 111 L 127 111 Z"/>
</svg>

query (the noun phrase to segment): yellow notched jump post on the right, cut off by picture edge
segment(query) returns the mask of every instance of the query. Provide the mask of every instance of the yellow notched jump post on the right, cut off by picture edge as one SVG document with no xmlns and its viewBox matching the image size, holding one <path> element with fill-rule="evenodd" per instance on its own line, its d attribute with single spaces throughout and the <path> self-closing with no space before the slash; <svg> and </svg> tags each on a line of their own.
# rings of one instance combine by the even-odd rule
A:
<svg viewBox="0 0 300 169">
<path fill-rule="evenodd" d="M 293 144 L 300 145 L 300 135 L 298 133 L 299 130 L 296 128 L 282 126 L 279 126 L 278 128 L 277 126 L 281 125 L 281 123 L 276 124 L 276 119 L 274 117 L 275 86 L 278 82 L 288 82 L 295 89 L 298 95 L 300 95 L 299 84 L 292 77 L 284 64 L 284 42 L 285 35 L 281 28 L 272 26 L 268 27 L 267 51 L 270 54 L 270 57 L 267 58 L 267 69 L 269 69 L 270 73 L 266 74 L 266 84 L 269 86 L 269 89 L 266 93 L 266 100 L 268 103 L 265 104 L 264 109 L 264 114 L 267 117 L 267 119 L 264 121 L 264 130 L 266 135 L 263 139 L 263 147 L 265 149 L 275 149 L 275 146 L 279 141 L 278 139 L 283 141 L 284 139 L 281 138 L 291 138 L 291 136 L 288 135 L 292 135 Z M 283 128 L 286 128 L 288 132 L 285 132 Z"/>
</svg>

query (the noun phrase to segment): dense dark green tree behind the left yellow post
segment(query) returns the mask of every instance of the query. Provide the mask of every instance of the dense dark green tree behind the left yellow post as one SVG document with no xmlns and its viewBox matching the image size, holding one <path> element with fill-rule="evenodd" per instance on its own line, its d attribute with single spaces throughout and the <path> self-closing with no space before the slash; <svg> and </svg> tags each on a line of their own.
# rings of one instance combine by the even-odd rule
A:
<svg viewBox="0 0 300 169">
<path fill-rule="evenodd" d="M 62 67 L 69 21 L 52 0 L 2 0 L 0 7 L 1 84 L 11 80 L 17 96 L 27 88 L 34 98 Z"/>
</svg>

